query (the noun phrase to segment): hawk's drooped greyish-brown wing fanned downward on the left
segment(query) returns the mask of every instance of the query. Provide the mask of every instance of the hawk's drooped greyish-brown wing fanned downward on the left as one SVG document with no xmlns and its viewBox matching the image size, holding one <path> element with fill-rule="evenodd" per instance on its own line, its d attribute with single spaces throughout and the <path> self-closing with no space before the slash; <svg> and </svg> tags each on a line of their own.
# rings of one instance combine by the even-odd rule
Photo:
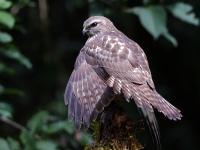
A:
<svg viewBox="0 0 200 150">
<path fill-rule="evenodd" d="M 85 61 L 84 53 L 81 52 L 65 90 L 65 104 L 69 105 L 68 120 L 71 121 L 75 116 L 76 129 L 80 129 L 82 122 L 87 129 L 91 113 L 95 110 L 92 119 L 96 118 L 113 96 L 112 88 L 109 88 L 96 74 L 93 67 Z M 104 101 L 101 100 L 102 98 Z"/>
</svg>

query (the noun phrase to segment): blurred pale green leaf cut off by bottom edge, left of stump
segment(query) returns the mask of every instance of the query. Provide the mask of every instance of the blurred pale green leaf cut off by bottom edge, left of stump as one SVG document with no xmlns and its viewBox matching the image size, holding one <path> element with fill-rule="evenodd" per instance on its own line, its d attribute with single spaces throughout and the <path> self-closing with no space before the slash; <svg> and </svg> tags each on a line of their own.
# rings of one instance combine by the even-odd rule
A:
<svg viewBox="0 0 200 150">
<path fill-rule="evenodd" d="M 36 143 L 37 150 L 57 150 L 57 145 L 50 140 L 40 140 Z"/>
</svg>

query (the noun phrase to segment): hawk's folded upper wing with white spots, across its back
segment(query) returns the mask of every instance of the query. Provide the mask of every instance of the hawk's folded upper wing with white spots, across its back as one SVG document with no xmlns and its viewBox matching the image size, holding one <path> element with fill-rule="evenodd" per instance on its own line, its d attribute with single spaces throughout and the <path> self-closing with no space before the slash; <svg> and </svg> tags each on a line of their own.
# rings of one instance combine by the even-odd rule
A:
<svg viewBox="0 0 200 150">
<path fill-rule="evenodd" d="M 109 38 L 108 38 L 109 37 Z M 108 39 L 109 45 L 107 46 L 105 42 Z M 105 40 L 105 41 L 101 41 Z M 104 44 L 104 45 L 103 45 Z M 86 61 L 92 66 L 99 66 L 104 68 L 104 70 L 115 78 L 120 80 L 127 80 L 136 84 L 144 84 L 147 82 L 147 77 L 150 81 L 150 85 L 154 88 L 153 81 L 151 81 L 151 73 L 149 70 L 143 69 L 143 66 L 148 67 L 147 61 L 146 64 L 138 64 L 134 59 L 137 59 L 138 56 L 133 55 L 131 51 L 131 46 L 123 42 L 117 35 L 103 35 L 103 37 L 96 38 L 93 41 L 90 41 L 83 48 L 83 52 L 86 54 Z M 117 49 L 118 48 L 118 49 Z M 98 49 L 98 50 L 97 50 Z M 115 50 L 113 50 L 115 49 Z M 137 53 L 138 54 L 138 53 Z M 140 53 L 139 53 L 140 54 Z M 141 49 L 141 58 L 145 59 L 146 56 L 142 53 Z M 146 67 L 145 66 L 145 67 Z M 144 70 L 145 76 L 144 76 Z"/>
</svg>

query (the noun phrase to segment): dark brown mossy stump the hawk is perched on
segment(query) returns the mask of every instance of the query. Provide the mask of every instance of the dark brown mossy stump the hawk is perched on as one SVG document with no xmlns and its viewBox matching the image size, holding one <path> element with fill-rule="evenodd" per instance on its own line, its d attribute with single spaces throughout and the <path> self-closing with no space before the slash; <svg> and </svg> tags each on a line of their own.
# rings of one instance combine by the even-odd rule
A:
<svg viewBox="0 0 200 150">
<path fill-rule="evenodd" d="M 142 145 L 136 139 L 141 128 L 141 121 L 127 116 L 121 106 L 121 98 L 115 98 L 107 106 L 99 123 L 92 124 L 95 141 L 85 150 L 141 150 Z"/>
</svg>

